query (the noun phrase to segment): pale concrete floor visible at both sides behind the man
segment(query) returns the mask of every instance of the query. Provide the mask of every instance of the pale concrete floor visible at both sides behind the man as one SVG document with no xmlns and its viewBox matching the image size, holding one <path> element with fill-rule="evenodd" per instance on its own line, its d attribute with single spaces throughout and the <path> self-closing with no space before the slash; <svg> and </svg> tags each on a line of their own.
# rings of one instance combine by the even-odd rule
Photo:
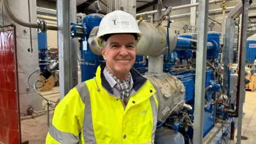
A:
<svg viewBox="0 0 256 144">
<path fill-rule="evenodd" d="M 57 101 L 59 94 L 55 93 L 59 91 L 59 87 L 54 87 L 53 90 L 42 92 L 46 95 L 46 99 Z M 51 94 L 55 93 L 55 94 Z M 256 143 L 256 102 L 255 102 L 256 92 L 246 92 L 245 105 L 242 125 L 242 135 L 248 138 L 248 140 L 242 140 L 242 143 Z M 43 102 L 45 103 L 45 102 Z M 45 106 L 46 108 L 46 106 Z M 53 111 L 50 111 L 50 124 L 52 121 Z M 47 115 L 39 116 L 32 119 L 27 119 L 21 121 L 21 137 L 22 141 L 28 140 L 29 143 L 43 144 L 45 143 L 45 138 L 47 135 Z M 236 135 L 237 131 L 235 131 Z M 236 139 L 236 136 L 235 136 Z M 224 142 L 225 143 L 225 142 Z M 234 143 L 234 141 L 229 141 L 227 143 Z M 236 140 L 235 140 L 236 143 Z"/>
</svg>

